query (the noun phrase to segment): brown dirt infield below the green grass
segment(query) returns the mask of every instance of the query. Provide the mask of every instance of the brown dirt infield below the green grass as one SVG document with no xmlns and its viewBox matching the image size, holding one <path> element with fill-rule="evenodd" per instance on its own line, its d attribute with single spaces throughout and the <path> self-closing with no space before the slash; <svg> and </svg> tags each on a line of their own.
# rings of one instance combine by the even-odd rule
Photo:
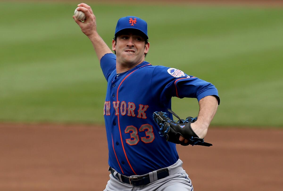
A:
<svg viewBox="0 0 283 191">
<path fill-rule="evenodd" d="M 212 147 L 177 146 L 194 190 L 282 190 L 283 131 L 210 128 Z M 0 190 L 103 190 L 99 126 L 0 124 Z"/>
</svg>

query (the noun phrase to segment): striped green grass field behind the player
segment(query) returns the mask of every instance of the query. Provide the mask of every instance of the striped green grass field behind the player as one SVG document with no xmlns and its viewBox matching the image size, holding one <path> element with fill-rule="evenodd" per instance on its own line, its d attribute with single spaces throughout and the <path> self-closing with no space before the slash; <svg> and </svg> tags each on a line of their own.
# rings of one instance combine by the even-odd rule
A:
<svg viewBox="0 0 283 191">
<path fill-rule="evenodd" d="M 76 3 L 1 5 L 0 121 L 103 124 L 106 80 L 72 19 Z M 283 127 L 283 8 L 90 5 L 109 46 L 120 17 L 141 17 L 148 62 L 213 83 L 221 104 L 212 125 Z M 173 98 L 172 109 L 196 116 L 198 102 Z"/>
</svg>

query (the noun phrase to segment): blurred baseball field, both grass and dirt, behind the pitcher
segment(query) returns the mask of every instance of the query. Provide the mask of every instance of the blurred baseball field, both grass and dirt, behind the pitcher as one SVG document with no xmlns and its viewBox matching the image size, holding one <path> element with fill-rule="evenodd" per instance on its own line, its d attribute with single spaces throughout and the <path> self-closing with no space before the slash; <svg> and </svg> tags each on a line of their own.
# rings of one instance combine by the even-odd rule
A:
<svg viewBox="0 0 283 191">
<path fill-rule="evenodd" d="M 146 61 L 217 87 L 214 146 L 177 146 L 196 190 L 282 189 L 283 1 L 84 2 L 109 47 L 120 17 L 141 17 Z M 103 190 L 107 83 L 72 19 L 81 1 L 0 3 L 0 190 Z M 181 118 L 198 108 L 172 99 Z"/>
</svg>

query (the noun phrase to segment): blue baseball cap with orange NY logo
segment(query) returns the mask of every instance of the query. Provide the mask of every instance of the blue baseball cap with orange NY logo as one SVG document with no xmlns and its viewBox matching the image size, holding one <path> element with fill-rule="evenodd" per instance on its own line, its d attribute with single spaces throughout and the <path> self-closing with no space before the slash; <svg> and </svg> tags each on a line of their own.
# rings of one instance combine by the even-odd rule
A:
<svg viewBox="0 0 283 191">
<path fill-rule="evenodd" d="M 116 25 L 115 36 L 117 32 L 124 30 L 124 29 L 140 30 L 143 34 L 145 34 L 146 38 L 148 39 L 147 23 L 139 17 L 127 16 L 127 17 L 120 18 Z"/>
</svg>

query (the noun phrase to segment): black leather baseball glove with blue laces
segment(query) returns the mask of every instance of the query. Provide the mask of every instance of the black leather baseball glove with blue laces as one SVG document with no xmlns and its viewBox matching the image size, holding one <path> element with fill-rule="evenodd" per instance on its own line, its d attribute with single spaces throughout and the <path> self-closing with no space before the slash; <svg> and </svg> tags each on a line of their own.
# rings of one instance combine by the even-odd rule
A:
<svg viewBox="0 0 283 191">
<path fill-rule="evenodd" d="M 167 113 L 162 111 L 155 111 L 153 113 L 153 119 L 159 125 L 159 134 L 160 136 L 164 136 L 167 141 L 181 144 L 183 146 L 187 146 L 191 144 L 201 145 L 201 146 L 212 146 L 212 144 L 208 142 L 204 142 L 204 139 L 201 139 L 196 135 L 196 133 L 192 130 L 191 123 L 197 120 L 197 117 L 187 117 L 186 120 L 180 119 L 177 114 L 175 114 L 171 109 L 168 109 L 170 113 L 175 115 L 179 120 L 171 120 L 168 117 Z M 184 143 L 179 141 L 179 137 L 182 135 L 185 139 L 188 140 L 188 143 Z"/>
</svg>

